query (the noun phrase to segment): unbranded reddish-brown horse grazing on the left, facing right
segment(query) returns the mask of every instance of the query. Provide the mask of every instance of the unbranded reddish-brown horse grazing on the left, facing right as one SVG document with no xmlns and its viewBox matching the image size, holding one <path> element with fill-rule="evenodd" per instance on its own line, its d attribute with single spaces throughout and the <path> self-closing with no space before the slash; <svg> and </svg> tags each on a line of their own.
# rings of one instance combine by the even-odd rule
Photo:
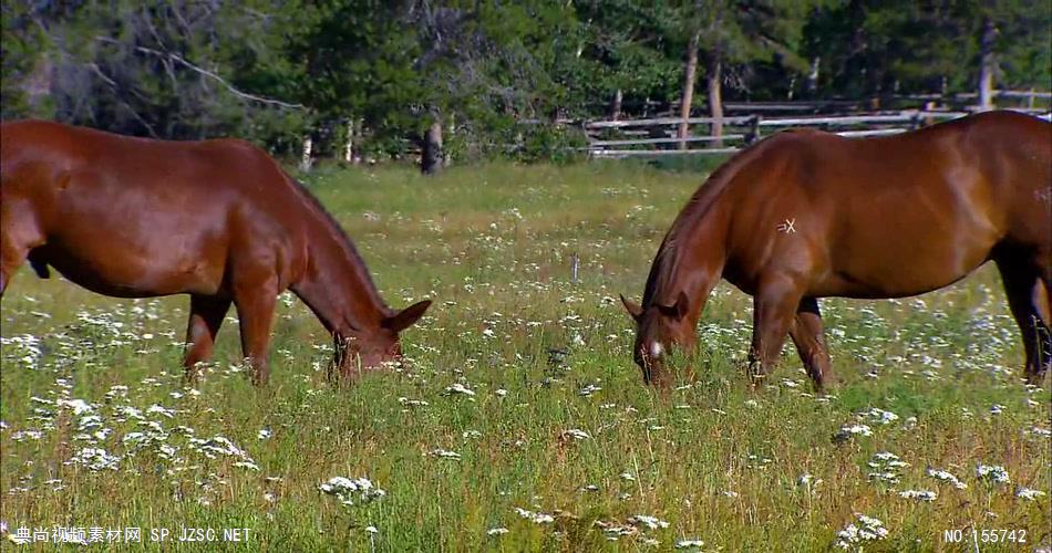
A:
<svg viewBox="0 0 1052 553">
<path fill-rule="evenodd" d="M 386 306 L 354 246 L 265 152 L 41 121 L 0 126 L 0 294 L 27 259 L 117 298 L 190 295 L 187 375 L 237 307 L 254 382 L 269 378 L 277 295 L 289 289 L 337 343 L 343 375 L 401 355 L 430 301 Z"/>
</svg>

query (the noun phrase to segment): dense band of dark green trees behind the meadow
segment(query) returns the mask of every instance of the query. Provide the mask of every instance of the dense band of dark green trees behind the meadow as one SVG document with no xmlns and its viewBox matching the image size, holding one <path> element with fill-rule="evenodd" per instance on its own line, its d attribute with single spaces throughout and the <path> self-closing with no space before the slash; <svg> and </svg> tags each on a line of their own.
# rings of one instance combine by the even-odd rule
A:
<svg viewBox="0 0 1052 553">
<path fill-rule="evenodd" d="M 523 121 L 674 106 L 689 45 L 723 100 L 1048 90 L 1048 2 L 1018 0 L 128 0 L 2 2 L 2 115 L 290 153 L 404 154 L 435 122 L 461 158 L 573 145 Z M 697 34 L 695 40 L 691 40 Z M 536 125 L 535 125 L 536 126 Z M 452 133 L 450 131 L 453 131 Z M 550 136 L 549 136 L 550 134 Z M 565 148 L 564 148 L 565 149 Z"/>
</svg>

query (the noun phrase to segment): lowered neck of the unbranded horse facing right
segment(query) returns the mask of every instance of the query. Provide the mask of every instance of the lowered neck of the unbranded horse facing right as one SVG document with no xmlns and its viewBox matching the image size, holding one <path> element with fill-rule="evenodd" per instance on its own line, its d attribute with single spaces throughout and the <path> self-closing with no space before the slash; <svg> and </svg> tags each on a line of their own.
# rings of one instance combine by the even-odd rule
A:
<svg viewBox="0 0 1052 553">
<path fill-rule="evenodd" d="M 328 220 L 314 226 L 320 228 L 308 237 L 307 271 L 290 288 L 330 333 L 374 331 L 390 310 L 350 240 L 332 226 Z"/>
</svg>

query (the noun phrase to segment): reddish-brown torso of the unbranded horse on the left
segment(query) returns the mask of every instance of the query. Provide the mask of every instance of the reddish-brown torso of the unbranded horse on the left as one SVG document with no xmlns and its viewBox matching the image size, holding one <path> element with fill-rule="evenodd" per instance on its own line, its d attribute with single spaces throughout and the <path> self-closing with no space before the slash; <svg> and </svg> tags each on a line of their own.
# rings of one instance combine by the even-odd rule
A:
<svg viewBox="0 0 1052 553">
<path fill-rule="evenodd" d="M 287 284 L 305 263 L 297 185 L 246 142 L 151 140 L 35 121 L 4 123 L 2 136 L 4 233 L 85 288 L 215 294 L 235 264 L 276 269 Z"/>
</svg>

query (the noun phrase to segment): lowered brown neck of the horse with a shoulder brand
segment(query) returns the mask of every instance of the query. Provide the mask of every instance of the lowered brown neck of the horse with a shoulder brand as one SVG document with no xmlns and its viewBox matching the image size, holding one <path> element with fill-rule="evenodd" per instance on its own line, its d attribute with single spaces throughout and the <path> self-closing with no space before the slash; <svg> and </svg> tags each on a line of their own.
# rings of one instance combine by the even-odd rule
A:
<svg viewBox="0 0 1052 553">
<path fill-rule="evenodd" d="M 722 197 L 722 195 L 721 195 Z M 666 236 L 651 268 L 643 306 L 673 305 L 680 292 L 687 295 L 687 316 L 697 323 L 723 274 L 726 263 L 729 217 L 720 197 L 708 206 L 684 210 Z"/>
</svg>

